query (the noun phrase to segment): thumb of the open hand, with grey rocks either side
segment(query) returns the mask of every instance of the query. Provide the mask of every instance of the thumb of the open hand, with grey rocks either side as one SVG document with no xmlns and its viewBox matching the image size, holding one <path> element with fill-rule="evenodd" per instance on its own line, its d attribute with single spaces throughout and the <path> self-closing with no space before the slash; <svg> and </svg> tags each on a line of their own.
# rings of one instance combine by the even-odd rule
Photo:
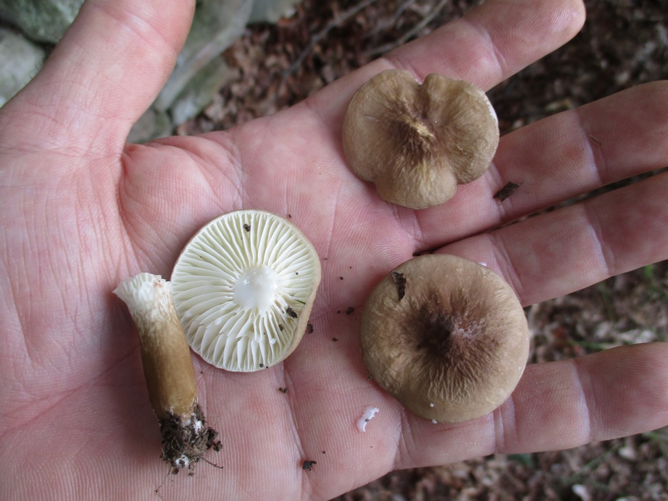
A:
<svg viewBox="0 0 668 501">
<path fill-rule="evenodd" d="M 17 134 L 39 134 L 56 148 L 118 148 L 166 81 L 194 4 L 86 1 L 37 77 L 8 104 Z"/>
</svg>

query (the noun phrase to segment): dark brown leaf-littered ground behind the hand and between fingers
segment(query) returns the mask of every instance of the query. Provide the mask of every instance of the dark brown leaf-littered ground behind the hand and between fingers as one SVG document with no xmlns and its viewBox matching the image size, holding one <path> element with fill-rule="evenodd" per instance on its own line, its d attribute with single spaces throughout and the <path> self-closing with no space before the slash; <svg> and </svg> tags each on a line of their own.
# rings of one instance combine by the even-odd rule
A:
<svg viewBox="0 0 668 501">
<path fill-rule="evenodd" d="M 237 79 L 181 134 L 274 113 L 424 35 L 471 0 L 305 0 L 277 26 L 255 26 L 225 53 Z M 668 78 L 665 0 L 587 0 L 566 46 L 493 88 L 502 134 L 630 86 Z M 633 182 L 629 180 L 628 182 Z M 616 186 L 611 186 L 613 189 Z M 668 340 L 668 263 L 528 308 L 530 363 L 619 344 Z M 392 472 L 338 500 L 668 500 L 668 429 L 573 450 L 494 455 Z"/>
</svg>

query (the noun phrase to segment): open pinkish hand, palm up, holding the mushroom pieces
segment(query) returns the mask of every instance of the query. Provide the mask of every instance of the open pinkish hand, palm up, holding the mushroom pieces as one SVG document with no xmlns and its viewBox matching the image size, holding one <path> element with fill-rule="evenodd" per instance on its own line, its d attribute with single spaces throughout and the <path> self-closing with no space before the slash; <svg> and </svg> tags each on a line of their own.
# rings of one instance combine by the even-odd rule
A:
<svg viewBox="0 0 668 501">
<path fill-rule="evenodd" d="M 666 83 L 502 138 L 490 171 L 434 209 L 382 202 L 342 158 L 344 108 L 373 74 L 400 67 L 490 88 L 580 29 L 577 0 L 489 1 L 276 116 L 125 145 L 193 5 L 87 1 L 42 72 L 1 111 L 0 498 L 153 498 L 168 469 L 136 333 L 111 290 L 139 271 L 168 277 L 193 232 L 241 208 L 291 218 L 317 248 L 314 332 L 260 373 L 223 372 L 194 356 L 200 401 L 223 440 L 208 458 L 224 468 L 200 463 L 194 477 L 170 477 L 164 498 L 328 499 L 395 468 L 668 424 L 663 344 L 527 367 L 506 404 L 457 425 L 407 413 L 361 361 L 365 297 L 413 253 L 486 262 L 524 304 L 668 257 L 666 174 L 504 225 L 668 164 Z M 492 195 L 508 181 L 522 189 L 500 205 Z M 380 412 L 362 434 L 355 422 L 368 405 Z M 305 460 L 317 462 L 312 471 Z"/>
</svg>

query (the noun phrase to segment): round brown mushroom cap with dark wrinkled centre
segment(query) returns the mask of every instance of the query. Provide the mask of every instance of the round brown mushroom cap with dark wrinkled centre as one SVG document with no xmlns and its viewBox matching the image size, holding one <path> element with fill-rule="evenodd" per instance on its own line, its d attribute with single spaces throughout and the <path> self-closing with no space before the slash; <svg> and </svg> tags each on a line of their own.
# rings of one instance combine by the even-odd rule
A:
<svg viewBox="0 0 668 501">
<path fill-rule="evenodd" d="M 399 265 L 362 312 L 360 343 L 372 379 L 409 411 L 434 422 L 486 415 L 516 387 L 529 329 L 513 289 L 475 262 L 445 254 Z"/>
</svg>

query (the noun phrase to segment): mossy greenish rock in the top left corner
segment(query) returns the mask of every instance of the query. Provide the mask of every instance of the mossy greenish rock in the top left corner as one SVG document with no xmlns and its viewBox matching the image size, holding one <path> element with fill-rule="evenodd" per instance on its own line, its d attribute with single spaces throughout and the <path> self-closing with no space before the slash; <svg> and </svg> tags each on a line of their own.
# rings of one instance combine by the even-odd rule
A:
<svg viewBox="0 0 668 501">
<path fill-rule="evenodd" d="M 0 0 L 0 19 L 18 26 L 33 40 L 56 43 L 84 0 Z"/>
</svg>

